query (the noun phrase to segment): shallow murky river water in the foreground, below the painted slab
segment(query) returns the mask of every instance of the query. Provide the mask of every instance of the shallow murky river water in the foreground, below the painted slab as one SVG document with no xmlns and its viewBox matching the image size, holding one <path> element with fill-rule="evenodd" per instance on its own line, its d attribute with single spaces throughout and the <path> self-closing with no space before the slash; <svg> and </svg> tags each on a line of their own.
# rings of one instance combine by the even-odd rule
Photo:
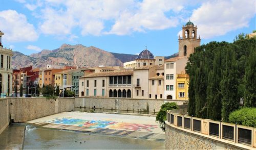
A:
<svg viewBox="0 0 256 150">
<path fill-rule="evenodd" d="M 164 142 L 28 126 L 24 149 L 164 149 Z"/>
</svg>

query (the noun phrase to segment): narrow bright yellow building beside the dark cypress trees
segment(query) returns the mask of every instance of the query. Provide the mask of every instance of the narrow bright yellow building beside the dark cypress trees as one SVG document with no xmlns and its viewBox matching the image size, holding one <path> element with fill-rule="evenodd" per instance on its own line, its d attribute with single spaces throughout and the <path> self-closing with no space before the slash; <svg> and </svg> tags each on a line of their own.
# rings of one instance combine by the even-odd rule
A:
<svg viewBox="0 0 256 150">
<path fill-rule="evenodd" d="M 188 100 L 188 74 L 176 74 L 176 99 Z"/>
</svg>

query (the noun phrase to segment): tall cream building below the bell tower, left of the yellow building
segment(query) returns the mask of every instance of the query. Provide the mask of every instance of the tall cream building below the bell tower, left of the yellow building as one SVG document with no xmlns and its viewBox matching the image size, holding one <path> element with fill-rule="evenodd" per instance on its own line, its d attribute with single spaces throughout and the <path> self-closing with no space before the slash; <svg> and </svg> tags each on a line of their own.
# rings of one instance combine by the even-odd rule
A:
<svg viewBox="0 0 256 150">
<path fill-rule="evenodd" d="M 176 74 L 184 74 L 187 57 L 174 57 L 164 61 L 164 99 L 176 99 Z"/>
</svg>

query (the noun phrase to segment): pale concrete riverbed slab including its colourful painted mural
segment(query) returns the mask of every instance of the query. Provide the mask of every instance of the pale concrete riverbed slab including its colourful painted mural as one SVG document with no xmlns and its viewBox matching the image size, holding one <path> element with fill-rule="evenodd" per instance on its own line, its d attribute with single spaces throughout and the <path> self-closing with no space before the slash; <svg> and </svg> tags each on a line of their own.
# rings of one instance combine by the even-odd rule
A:
<svg viewBox="0 0 256 150">
<path fill-rule="evenodd" d="M 46 128 L 92 132 L 147 140 L 164 140 L 164 132 L 158 127 L 155 119 L 155 117 L 151 116 L 62 112 L 28 122 Z"/>
</svg>

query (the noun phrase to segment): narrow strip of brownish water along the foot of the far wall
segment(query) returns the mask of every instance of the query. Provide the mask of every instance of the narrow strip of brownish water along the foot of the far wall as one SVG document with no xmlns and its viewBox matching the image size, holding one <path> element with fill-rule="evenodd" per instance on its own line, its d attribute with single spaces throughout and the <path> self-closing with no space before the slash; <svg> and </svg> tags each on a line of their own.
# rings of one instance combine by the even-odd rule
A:
<svg viewBox="0 0 256 150">
<path fill-rule="evenodd" d="M 143 112 L 143 110 L 136 110 L 136 111 L 131 111 L 131 110 L 111 110 L 111 109 L 98 109 L 96 108 L 95 110 L 92 109 L 92 108 L 79 108 L 79 107 L 75 107 L 75 111 L 81 111 L 81 112 L 90 112 L 90 111 L 94 111 L 94 112 L 111 112 L 111 113 L 118 113 L 118 114 L 121 114 L 121 113 L 135 113 L 135 114 L 147 114 L 146 112 Z M 148 114 L 151 114 L 151 115 L 156 115 L 157 112 L 149 112 Z"/>
</svg>

